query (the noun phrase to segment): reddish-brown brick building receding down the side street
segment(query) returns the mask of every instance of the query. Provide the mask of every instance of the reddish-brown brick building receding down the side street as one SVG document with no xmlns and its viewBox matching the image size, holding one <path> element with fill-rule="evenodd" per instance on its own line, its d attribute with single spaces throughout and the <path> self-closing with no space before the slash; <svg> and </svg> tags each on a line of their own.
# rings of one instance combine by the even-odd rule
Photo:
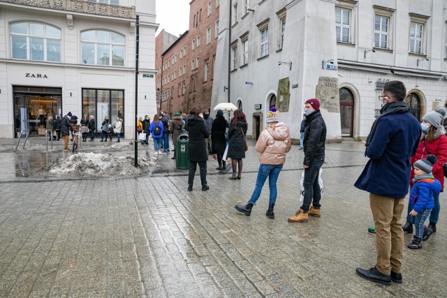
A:
<svg viewBox="0 0 447 298">
<path fill-rule="evenodd" d="M 219 1 L 192 0 L 189 30 L 162 52 L 162 31 L 156 37 L 156 75 L 159 110 L 172 115 L 189 107 L 209 109 L 219 33 Z"/>
</svg>

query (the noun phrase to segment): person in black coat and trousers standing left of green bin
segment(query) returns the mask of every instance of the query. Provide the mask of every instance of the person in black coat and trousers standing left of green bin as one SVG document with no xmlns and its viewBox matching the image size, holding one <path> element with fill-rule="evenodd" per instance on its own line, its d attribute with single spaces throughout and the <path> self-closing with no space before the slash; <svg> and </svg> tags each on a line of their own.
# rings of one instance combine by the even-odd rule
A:
<svg viewBox="0 0 447 298">
<path fill-rule="evenodd" d="M 203 118 L 198 114 L 202 112 L 200 107 L 191 107 L 188 115 L 188 125 L 186 130 L 189 133 L 189 175 L 188 191 L 193 191 L 194 175 L 196 174 L 197 164 L 200 167 L 200 181 L 202 182 L 202 191 L 207 191 L 210 187 L 207 185 L 207 160 L 208 153 L 205 146 L 205 139 L 210 137 L 205 128 Z"/>
</svg>

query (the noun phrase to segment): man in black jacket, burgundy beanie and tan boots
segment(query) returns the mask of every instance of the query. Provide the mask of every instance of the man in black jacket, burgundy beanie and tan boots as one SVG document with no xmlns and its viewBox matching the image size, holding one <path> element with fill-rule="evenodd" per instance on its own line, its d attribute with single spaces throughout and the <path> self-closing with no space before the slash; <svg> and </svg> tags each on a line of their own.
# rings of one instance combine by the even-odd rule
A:
<svg viewBox="0 0 447 298">
<path fill-rule="evenodd" d="M 305 168 L 303 186 L 305 188 L 304 202 L 295 216 L 288 218 L 291 223 L 307 223 L 310 216 L 321 216 L 321 189 L 318 184 L 318 173 L 324 163 L 326 142 L 326 124 L 321 116 L 320 102 L 310 98 L 305 103 L 306 126 L 304 136 Z M 312 203 L 312 207 L 310 204 Z"/>
</svg>

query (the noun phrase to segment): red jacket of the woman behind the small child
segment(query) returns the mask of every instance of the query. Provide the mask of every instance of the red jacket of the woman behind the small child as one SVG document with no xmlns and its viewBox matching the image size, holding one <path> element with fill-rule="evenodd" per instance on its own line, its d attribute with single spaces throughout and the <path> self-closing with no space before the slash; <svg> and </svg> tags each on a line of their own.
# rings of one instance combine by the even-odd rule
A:
<svg viewBox="0 0 447 298">
<path fill-rule="evenodd" d="M 437 130 L 434 133 L 434 140 L 432 142 L 427 141 L 427 135 L 423 134 L 420 138 L 420 142 L 418 144 L 418 151 L 416 154 L 411 157 L 410 163 L 413 165 L 416 161 L 427 158 L 428 152 L 430 154 L 434 154 L 438 160 L 433 165 L 433 176 L 438 179 L 441 183 L 441 191 L 444 191 L 444 165 L 447 163 L 447 137 L 446 137 L 446 129 L 444 126 L 438 126 Z M 425 149 L 424 147 L 425 142 Z M 427 152 L 428 151 L 428 152 Z M 414 178 L 414 167 L 412 167 L 412 171 L 410 172 L 410 184 L 413 185 Z"/>
</svg>

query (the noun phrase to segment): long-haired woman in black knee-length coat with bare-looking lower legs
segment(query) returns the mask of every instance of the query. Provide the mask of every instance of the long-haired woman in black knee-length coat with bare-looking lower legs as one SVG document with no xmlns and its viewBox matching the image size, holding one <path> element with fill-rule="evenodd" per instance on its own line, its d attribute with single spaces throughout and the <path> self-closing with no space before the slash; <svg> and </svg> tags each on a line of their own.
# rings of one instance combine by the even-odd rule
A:
<svg viewBox="0 0 447 298">
<path fill-rule="evenodd" d="M 242 177 L 242 158 L 245 158 L 245 139 L 248 124 L 242 110 L 235 110 L 235 114 L 230 121 L 230 128 L 228 128 L 228 154 L 231 158 L 231 167 L 233 168 L 233 175 L 230 179 L 241 179 Z M 239 167 L 239 171 L 237 168 Z"/>
</svg>

